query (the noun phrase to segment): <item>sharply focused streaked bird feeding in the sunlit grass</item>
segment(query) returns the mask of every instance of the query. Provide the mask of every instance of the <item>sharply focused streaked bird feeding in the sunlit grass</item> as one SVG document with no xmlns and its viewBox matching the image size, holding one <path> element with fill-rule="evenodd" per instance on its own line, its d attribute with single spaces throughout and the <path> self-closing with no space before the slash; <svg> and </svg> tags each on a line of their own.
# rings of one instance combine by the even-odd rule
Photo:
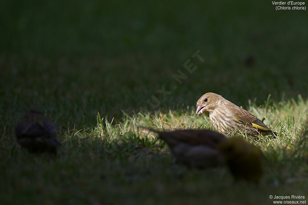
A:
<svg viewBox="0 0 308 205">
<path fill-rule="evenodd" d="M 209 116 L 210 123 L 218 132 L 224 134 L 238 129 L 247 135 L 277 135 L 257 117 L 216 93 L 205 93 L 197 101 L 196 114 L 202 113 Z"/>
</svg>

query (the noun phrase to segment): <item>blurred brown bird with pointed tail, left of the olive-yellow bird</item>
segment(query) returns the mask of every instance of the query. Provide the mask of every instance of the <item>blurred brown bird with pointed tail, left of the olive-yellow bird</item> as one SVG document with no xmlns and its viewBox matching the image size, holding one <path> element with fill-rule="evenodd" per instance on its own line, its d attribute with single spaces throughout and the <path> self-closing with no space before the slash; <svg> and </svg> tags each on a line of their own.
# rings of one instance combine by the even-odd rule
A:
<svg viewBox="0 0 308 205">
<path fill-rule="evenodd" d="M 146 128 L 159 134 L 175 158 L 188 167 L 208 168 L 223 164 L 223 157 L 217 146 L 227 138 L 211 130 L 176 130 L 161 132 Z"/>
</svg>

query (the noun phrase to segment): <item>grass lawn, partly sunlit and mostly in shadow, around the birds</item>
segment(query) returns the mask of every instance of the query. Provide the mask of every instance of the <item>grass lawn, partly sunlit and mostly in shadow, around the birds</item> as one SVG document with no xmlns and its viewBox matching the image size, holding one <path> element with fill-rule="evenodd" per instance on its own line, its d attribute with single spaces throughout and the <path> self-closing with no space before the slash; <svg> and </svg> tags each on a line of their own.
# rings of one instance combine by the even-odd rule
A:
<svg viewBox="0 0 308 205">
<path fill-rule="evenodd" d="M 2 203 L 272 204 L 269 195 L 308 197 L 307 15 L 276 11 L 268 1 L 1 1 Z M 193 57 L 197 51 L 202 59 Z M 183 66 L 189 63 L 197 66 L 192 73 Z M 176 80 L 178 70 L 187 78 Z M 206 92 L 279 132 L 253 140 L 266 156 L 259 185 L 234 183 L 225 168 L 175 164 L 166 144 L 138 129 L 211 129 L 195 114 Z M 55 121 L 63 143 L 55 158 L 17 145 L 14 126 L 29 108 Z"/>
</svg>

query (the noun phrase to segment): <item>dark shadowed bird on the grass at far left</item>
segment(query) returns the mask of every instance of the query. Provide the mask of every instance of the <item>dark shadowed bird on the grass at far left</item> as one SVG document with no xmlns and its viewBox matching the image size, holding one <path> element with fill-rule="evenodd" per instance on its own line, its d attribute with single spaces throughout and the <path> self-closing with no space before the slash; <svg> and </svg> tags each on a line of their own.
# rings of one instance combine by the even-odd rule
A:
<svg viewBox="0 0 308 205">
<path fill-rule="evenodd" d="M 52 152 L 61 143 L 56 136 L 57 129 L 42 112 L 30 110 L 15 129 L 18 143 L 29 152 Z"/>
</svg>

